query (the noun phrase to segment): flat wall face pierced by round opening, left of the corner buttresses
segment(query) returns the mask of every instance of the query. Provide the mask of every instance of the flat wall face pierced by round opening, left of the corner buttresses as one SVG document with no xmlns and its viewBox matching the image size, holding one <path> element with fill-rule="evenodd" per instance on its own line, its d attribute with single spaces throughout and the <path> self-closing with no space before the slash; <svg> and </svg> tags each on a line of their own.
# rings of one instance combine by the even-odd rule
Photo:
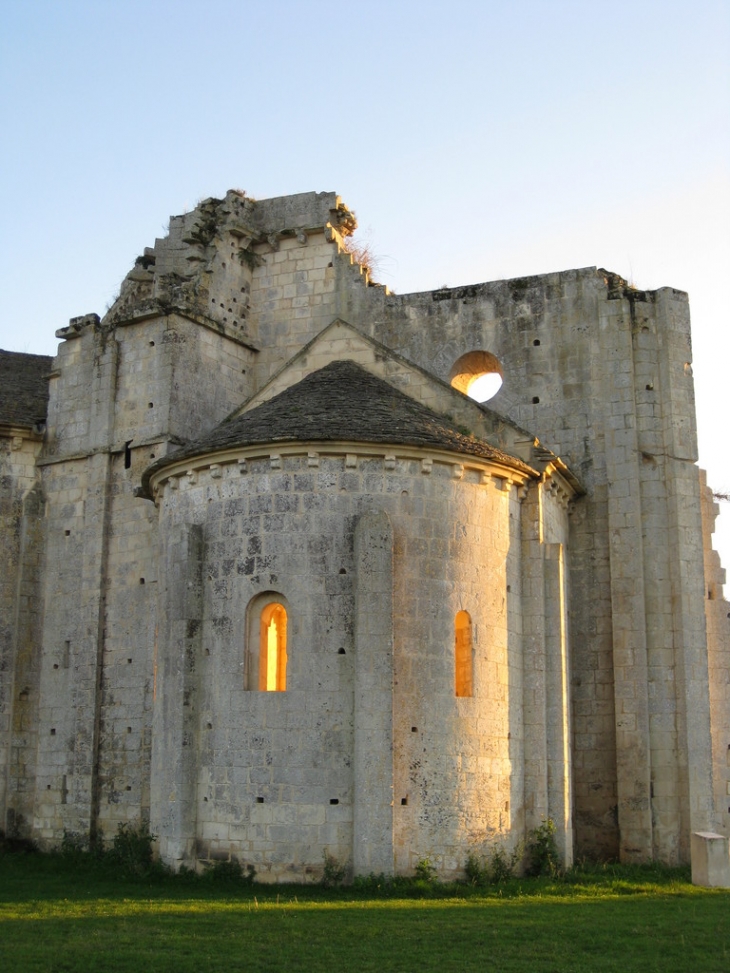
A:
<svg viewBox="0 0 730 973">
<path fill-rule="evenodd" d="M 345 314 L 443 379 L 465 352 L 499 359 L 504 384 L 489 406 L 529 429 L 581 478 L 588 494 L 571 521 L 574 772 L 579 853 L 618 852 L 613 621 L 607 534 L 605 350 L 595 270 L 426 294 L 355 292 Z M 610 408 L 610 404 L 609 404 Z"/>
</svg>

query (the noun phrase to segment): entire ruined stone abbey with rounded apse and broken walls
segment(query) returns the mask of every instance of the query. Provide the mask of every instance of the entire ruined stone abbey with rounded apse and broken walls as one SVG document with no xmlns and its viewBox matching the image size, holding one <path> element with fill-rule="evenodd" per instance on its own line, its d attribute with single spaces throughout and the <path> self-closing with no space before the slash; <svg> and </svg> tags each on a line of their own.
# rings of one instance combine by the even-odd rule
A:
<svg viewBox="0 0 730 973">
<path fill-rule="evenodd" d="M 396 295 L 353 228 L 208 199 L 0 353 L 0 827 L 269 881 L 456 877 L 548 818 L 688 861 L 730 834 L 730 605 L 687 295 Z"/>
</svg>

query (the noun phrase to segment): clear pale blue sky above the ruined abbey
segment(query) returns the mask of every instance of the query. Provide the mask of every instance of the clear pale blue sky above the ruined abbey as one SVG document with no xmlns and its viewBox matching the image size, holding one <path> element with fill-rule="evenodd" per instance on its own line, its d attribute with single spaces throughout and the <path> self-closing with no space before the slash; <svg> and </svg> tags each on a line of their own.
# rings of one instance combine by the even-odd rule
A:
<svg viewBox="0 0 730 973">
<path fill-rule="evenodd" d="M 689 291 L 730 490 L 730 0 L 0 0 L 0 92 L 0 347 L 55 353 L 201 198 L 332 190 L 401 293 Z"/>
</svg>

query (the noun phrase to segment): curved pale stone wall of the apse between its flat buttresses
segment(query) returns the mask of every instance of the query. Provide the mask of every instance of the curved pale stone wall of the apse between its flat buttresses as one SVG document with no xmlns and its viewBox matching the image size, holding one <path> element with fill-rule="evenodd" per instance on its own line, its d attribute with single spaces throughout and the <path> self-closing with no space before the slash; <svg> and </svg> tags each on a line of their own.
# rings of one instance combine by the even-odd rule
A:
<svg viewBox="0 0 730 973">
<path fill-rule="evenodd" d="M 249 458 L 165 486 L 164 563 L 171 531 L 198 524 L 203 532 L 202 637 L 189 663 L 197 712 L 186 742 L 197 760 L 199 858 L 236 855 L 279 880 L 319 874 L 325 851 L 352 859 L 353 527 L 377 509 L 387 511 L 394 538 L 396 871 L 431 856 L 442 874 L 460 873 L 470 846 L 518 840 L 510 829 L 523 820 L 522 659 L 507 579 L 519 590 L 519 544 L 509 530 L 519 501 L 503 483 L 482 483 L 458 463 L 384 459 L 353 446 L 341 457 Z M 244 689 L 246 609 L 266 590 L 291 611 L 285 693 Z M 454 696 L 460 609 L 473 621 L 470 699 Z M 156 706 L 174 710 L 187 690 L 176 682 L 169 637 L 158 650 Z M 177 840 L 167 801 L 183 782 L 165 765 L 167 743 L 158 745 L 166 776 L 152 823 L 164 853 Z"/>
</svg>

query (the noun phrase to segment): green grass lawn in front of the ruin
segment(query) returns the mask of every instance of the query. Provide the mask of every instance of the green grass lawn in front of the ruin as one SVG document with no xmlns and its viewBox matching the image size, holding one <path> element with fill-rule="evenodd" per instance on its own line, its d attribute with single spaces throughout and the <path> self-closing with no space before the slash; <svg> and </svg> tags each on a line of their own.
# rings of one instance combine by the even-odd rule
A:
<svg viewBox="0 0 730 973">
<path fill-rule="evenodd" d="M 501 886 L 122 878 L 0 854 L 2 973 L 730 971 L 730 890 L 605 866 Z"/>
</svg>

